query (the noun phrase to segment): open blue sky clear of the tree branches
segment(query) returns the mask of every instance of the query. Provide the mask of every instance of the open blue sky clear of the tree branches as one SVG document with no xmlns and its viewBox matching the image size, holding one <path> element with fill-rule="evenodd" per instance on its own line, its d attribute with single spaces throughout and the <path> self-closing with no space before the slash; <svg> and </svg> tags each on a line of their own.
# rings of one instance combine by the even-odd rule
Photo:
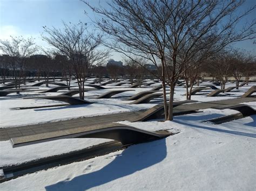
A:
<svg viewBox="0 0 256 191">
<path fill-rule="evenodd" d="M 97 6 L 105 4 L 104 0 L 87 0 Z M 225 1 L 225 0 L 223 0 Z M 255 0 L 248 0 L 242 9 L 256 5 Z M 241 9 L 241 11 L 242 11 Z M 87 12 L 87 16 L 84 14 Z M 42 26 L 62 27 L 62 21 L 78 23 L 79 20 L 90 24 L 90 17 L 94 17 L 89 8 L 80 0 L 0 0 L 0 39 L 12 36 L 35 37 L 36 43 L 45 45 L 40 39 Z M 255 18 L 256 11 L 246 19 Z M 235 44 L 236 47 L 246 49 L 256 54 L 253 40 Z M 113 53 L 113 59 L 122 59 Z"/>
</svg>

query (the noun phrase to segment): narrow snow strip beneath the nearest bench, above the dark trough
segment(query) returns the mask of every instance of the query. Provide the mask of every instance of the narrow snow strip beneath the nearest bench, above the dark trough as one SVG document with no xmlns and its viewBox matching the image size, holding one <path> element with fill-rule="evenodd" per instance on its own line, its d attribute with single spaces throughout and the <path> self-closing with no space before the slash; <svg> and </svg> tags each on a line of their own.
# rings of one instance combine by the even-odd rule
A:
<svg viewBox="0 0 256 191">
<path fill-rule="evenodd" d="M 12 166 L 24 162 L 82 150 L 93 145 L 109 142 L 110 139 L 60 139 L 25 147 L 12 148 L 9 140 L 0 142 L 0 166 Z M 36 151 L 36 152 L 31 152 Z"/>
</svg>

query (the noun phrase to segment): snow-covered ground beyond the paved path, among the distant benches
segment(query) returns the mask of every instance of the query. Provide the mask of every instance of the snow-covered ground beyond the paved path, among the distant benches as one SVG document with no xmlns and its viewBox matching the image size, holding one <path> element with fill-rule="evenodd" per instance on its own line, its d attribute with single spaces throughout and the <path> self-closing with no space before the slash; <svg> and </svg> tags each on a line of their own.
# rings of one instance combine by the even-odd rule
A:
<svg viewBox="0 0 256 191">
<path fill-rule="evenodd" d="M 32 84 L 32 83 L 31 83 Z M 71 84 L 74 85 L 74 84 Z M 159 85 L 159 83 L 154 84 L 154 86 Z M 227 87 L 232 86 L 233 84 L 227 84 Z M 255 85 L 255 83 L 252 83 Z M 51 85 L 49 88 L 56 87 Z M 39 96 L 40 91 L 49 89 L 45 86 L 39 87 L 36 90 L 36 93 Z M 231 98 L 237 98 L 244 94 L 250 87 L 245 86 L 241 87 L 240 91 L 235 91 L 229 93 L 227 96 L 217 96 L 217 97 L 206 97 L 205 94 L 194 95 L 192 96 L 192 100 L 196 101 L 217 101 L 217 100 L 225 100 Z M 117 89 L 127 89 L 127 88 L 111 88 L 111 90 Z M 66 105 L 62 107 L 51 107 L 51 108 L 38 108 L 38 109 L 26 109 L 26 110 L 12 110 L 11 108 L 19 108 L 19 107 L 38 107 L 43 105 L 57 105 L 63 104 L 63 102 L 52 101 L 52 100 L 42 100 L 42 99 L 28 99 L 24 100 L 22 98 L 13 98 L 16 96 L 15 94 L 10 94 L 5 97 L 0 97 L 0 116 L 1 116 L 1 124 L 0 128 L 8 128 L 14 126 L 28 125 L 28 124 L 37 124 L 37 123 L 45 123 L 45 122 L 53 122 L 53 121 L 62 121 L 71 118 L 78 117 L 89 117 L 89 116 L 97 116 L 97 115 L 105 115 L 105 114 L 113 114 L 117 112 L 127 112 L 134 111 L 139 109 L 148 109 L 157 104 L 157 102 L 151 102 L 150 104 L 133 104 L 129 105 L 132 101 L 125 101 L 127 96 L 132 96 L 141 91 L 146 91 L 152 89 L 152 87 L 147 88 L 130 88 L 132 91 L 126 91 L 124 93 L 117 94 L 110 99 L 93 99 L 96 95 L 100 95 L 109 91 L 109 89 L 103 90 L 95 90 L 95 91 L 87 91 L 85 93 L 86 100 L 93 102 L 93 104 L 85 104 L 85 105 Z M 65 90 L 58 91 L 56 93 L 44 93 L 43 95 L 59 95 L 63 93 Z M 207 90 L 209 93 L 211 90 Z M 22 95 L 30 96 L 31 94 L 35 94 L 32 92 L 24 92 Z M 176 91 L 174 94 L 174 100 L 180 101 L 185 100 L 185 88 L 176 87 Z M 35 96 L 38 96 L 35 95 Z M 17 97 L 17 96 L 16 96 Z M 123 98 L 117 98 L 123 97 Z M 161 100 L 158 99 L 159 101 Z"/>
</svg>

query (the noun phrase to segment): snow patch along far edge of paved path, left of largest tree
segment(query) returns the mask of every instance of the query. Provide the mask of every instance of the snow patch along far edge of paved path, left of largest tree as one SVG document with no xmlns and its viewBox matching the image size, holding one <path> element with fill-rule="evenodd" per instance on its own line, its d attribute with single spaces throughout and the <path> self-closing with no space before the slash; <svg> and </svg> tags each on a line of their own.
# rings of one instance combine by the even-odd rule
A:
<svg viewBox="0 0 256 191">
<path fill-rule="evenodd" d="M 127 107 L 122 107 L 122 105 L 119 106 L 114 104 L 107 105 L 98 103 L 67 105 L 53 108 L 10 110 L 10 108 L 24 107 L 25 105 L 26 107 L 32 107 L 50 104 L 59 104 L 59 102 L 50 100 L 22 100 L 21 103 L 19 100 L 3 100 L 1 101 L 0 128 L 131 111 L 131 109 L 129 109 L 129 105 Z"/>
</svg>

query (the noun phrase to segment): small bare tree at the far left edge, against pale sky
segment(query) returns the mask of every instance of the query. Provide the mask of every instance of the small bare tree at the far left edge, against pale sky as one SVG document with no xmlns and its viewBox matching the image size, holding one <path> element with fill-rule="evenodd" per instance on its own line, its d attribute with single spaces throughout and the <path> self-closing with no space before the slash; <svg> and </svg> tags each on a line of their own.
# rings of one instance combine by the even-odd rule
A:
<svg viewBox="0 0 256 191">
<path fill-rule="evenodd" d="M 15 87 L 21 86 L 21 78 L 25 78 L 24 69 L 30 55 L 36 52 L 33 38 L 11 37 L 11 40 L 0 40 L 0 49 L 9 59 L 10 67 L 14 72 Z"/>
</svg>

